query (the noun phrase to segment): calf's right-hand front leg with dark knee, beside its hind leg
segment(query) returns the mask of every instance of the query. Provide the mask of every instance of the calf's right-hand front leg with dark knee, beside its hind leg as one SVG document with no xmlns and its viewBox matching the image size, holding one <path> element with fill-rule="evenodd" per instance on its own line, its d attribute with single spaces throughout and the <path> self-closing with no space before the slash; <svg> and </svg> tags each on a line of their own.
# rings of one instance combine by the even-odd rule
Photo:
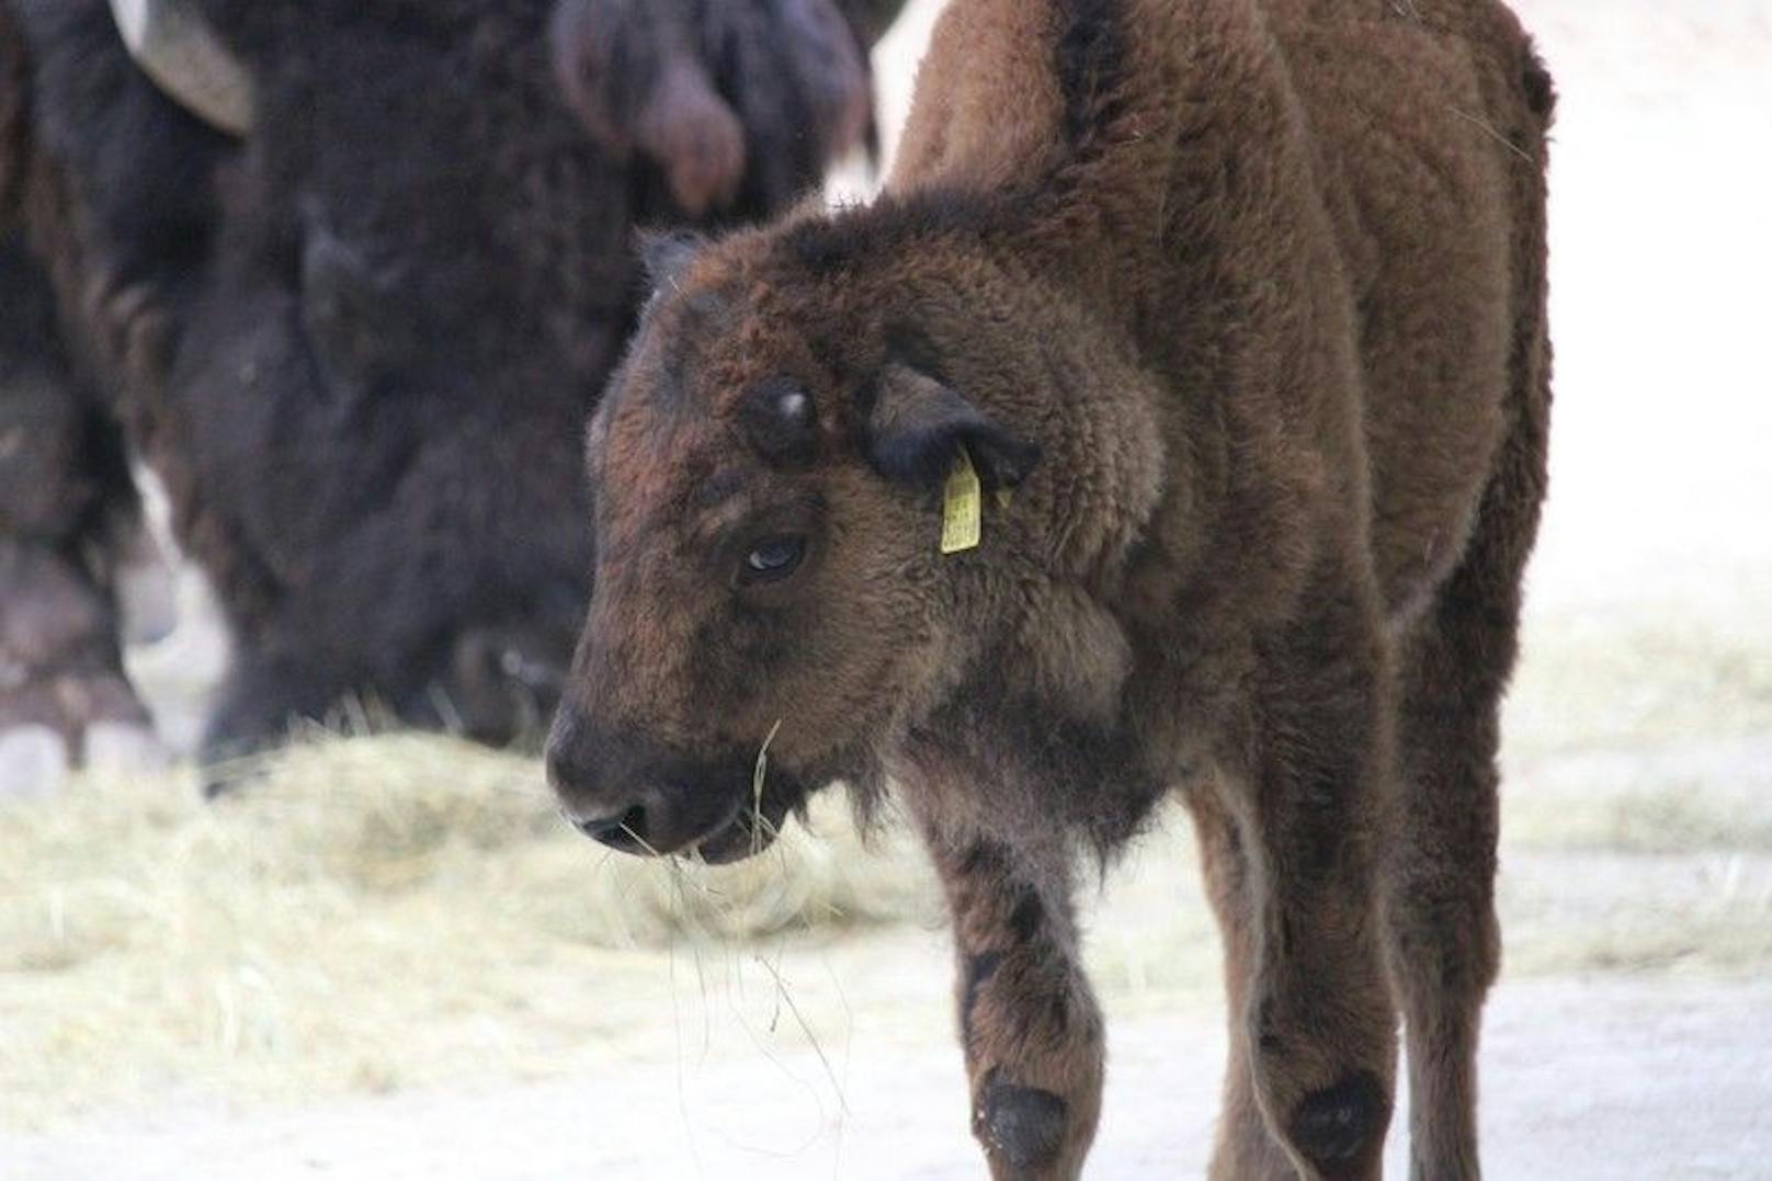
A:
<svg viewBox="0 0 1772 1181">
<path fill-rule="evenodd" d="M 1313 610 L 1263 638 L 1251 754 L 1216 777 L 1247 858 L 1251 1083 L 1304 1177 L 1379 1176 L 1391 1119 L 1375 864 L 1389 683 L 1373 598 L 1352 578 L 1320 582 Z"/>
</svg>

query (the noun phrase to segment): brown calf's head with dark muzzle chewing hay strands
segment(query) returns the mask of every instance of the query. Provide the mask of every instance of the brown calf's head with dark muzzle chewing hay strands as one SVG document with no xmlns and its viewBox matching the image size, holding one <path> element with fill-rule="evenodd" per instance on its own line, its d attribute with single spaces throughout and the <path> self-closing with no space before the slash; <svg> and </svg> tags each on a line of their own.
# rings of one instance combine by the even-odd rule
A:
<svg viewBox="0 0 1772 1181">
<path fill-rule="evenodd" d="M 955 296 L 824 284 L 767 243 L 654 245 L 659 294 L 590 426 L 595 590 L 549 775 L 618 849 L 732 860 L 810 789 L 875 778 L 985 628 L 989 546 L 939 546 L 953 463 L 989 502 L 1040 454 L 962 392 L 1014 365 L 937 360 L 968 332 Z"/>
</svg>

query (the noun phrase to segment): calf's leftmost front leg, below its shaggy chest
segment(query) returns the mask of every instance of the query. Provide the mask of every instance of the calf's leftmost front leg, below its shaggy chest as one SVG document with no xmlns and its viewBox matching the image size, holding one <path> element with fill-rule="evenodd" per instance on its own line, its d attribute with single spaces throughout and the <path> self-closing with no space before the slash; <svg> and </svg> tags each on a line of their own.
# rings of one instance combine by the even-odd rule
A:
<svg viewBox="0 0 1772 1181">
<path fill-rule="evenodd" d="M 953 911 L 973 1135 L 991 1176 L 1076 1177 L 1100 1114 L 1102 1020 L 1065 856 L 982 835 L 934 837 L 930 851 Z"/>
</svg>

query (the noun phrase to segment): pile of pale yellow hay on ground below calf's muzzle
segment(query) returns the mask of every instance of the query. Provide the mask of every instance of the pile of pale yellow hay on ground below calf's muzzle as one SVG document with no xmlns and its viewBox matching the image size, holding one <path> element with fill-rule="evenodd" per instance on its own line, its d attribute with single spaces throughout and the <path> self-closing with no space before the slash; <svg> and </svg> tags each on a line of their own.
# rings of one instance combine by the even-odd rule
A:
<svg viewBox="0 0 1772 1181">
<path fill-rule="evenodd" d="M 666 945 L 936 910 L 921 860 L 863 849 L 840 800 L 705 867 L 610 853 L 533 761 L 447 738 L 319 738 L 253 771 L 214 803 L 183 770 L 0 809 L 0 1122 L 548 1075 L 657 1023 Z"/>
</svg>

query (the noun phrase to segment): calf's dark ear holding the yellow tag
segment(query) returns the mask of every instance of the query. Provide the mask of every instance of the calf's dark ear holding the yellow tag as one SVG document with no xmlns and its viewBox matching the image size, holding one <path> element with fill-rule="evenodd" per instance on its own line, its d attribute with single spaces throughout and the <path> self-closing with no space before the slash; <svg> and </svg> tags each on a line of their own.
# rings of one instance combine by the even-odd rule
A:
<svg viewBox="0 0 1772 1181">
<path fill-rule="evenodd" d="M 987 489 L 1015 488 L 1040 461 L 1040 445 L 999 426 L 936 378 L 888 362 L 874 388 L 867 456 L 890 481 L 936 484 L 960 449 Z"/>
</svg>

